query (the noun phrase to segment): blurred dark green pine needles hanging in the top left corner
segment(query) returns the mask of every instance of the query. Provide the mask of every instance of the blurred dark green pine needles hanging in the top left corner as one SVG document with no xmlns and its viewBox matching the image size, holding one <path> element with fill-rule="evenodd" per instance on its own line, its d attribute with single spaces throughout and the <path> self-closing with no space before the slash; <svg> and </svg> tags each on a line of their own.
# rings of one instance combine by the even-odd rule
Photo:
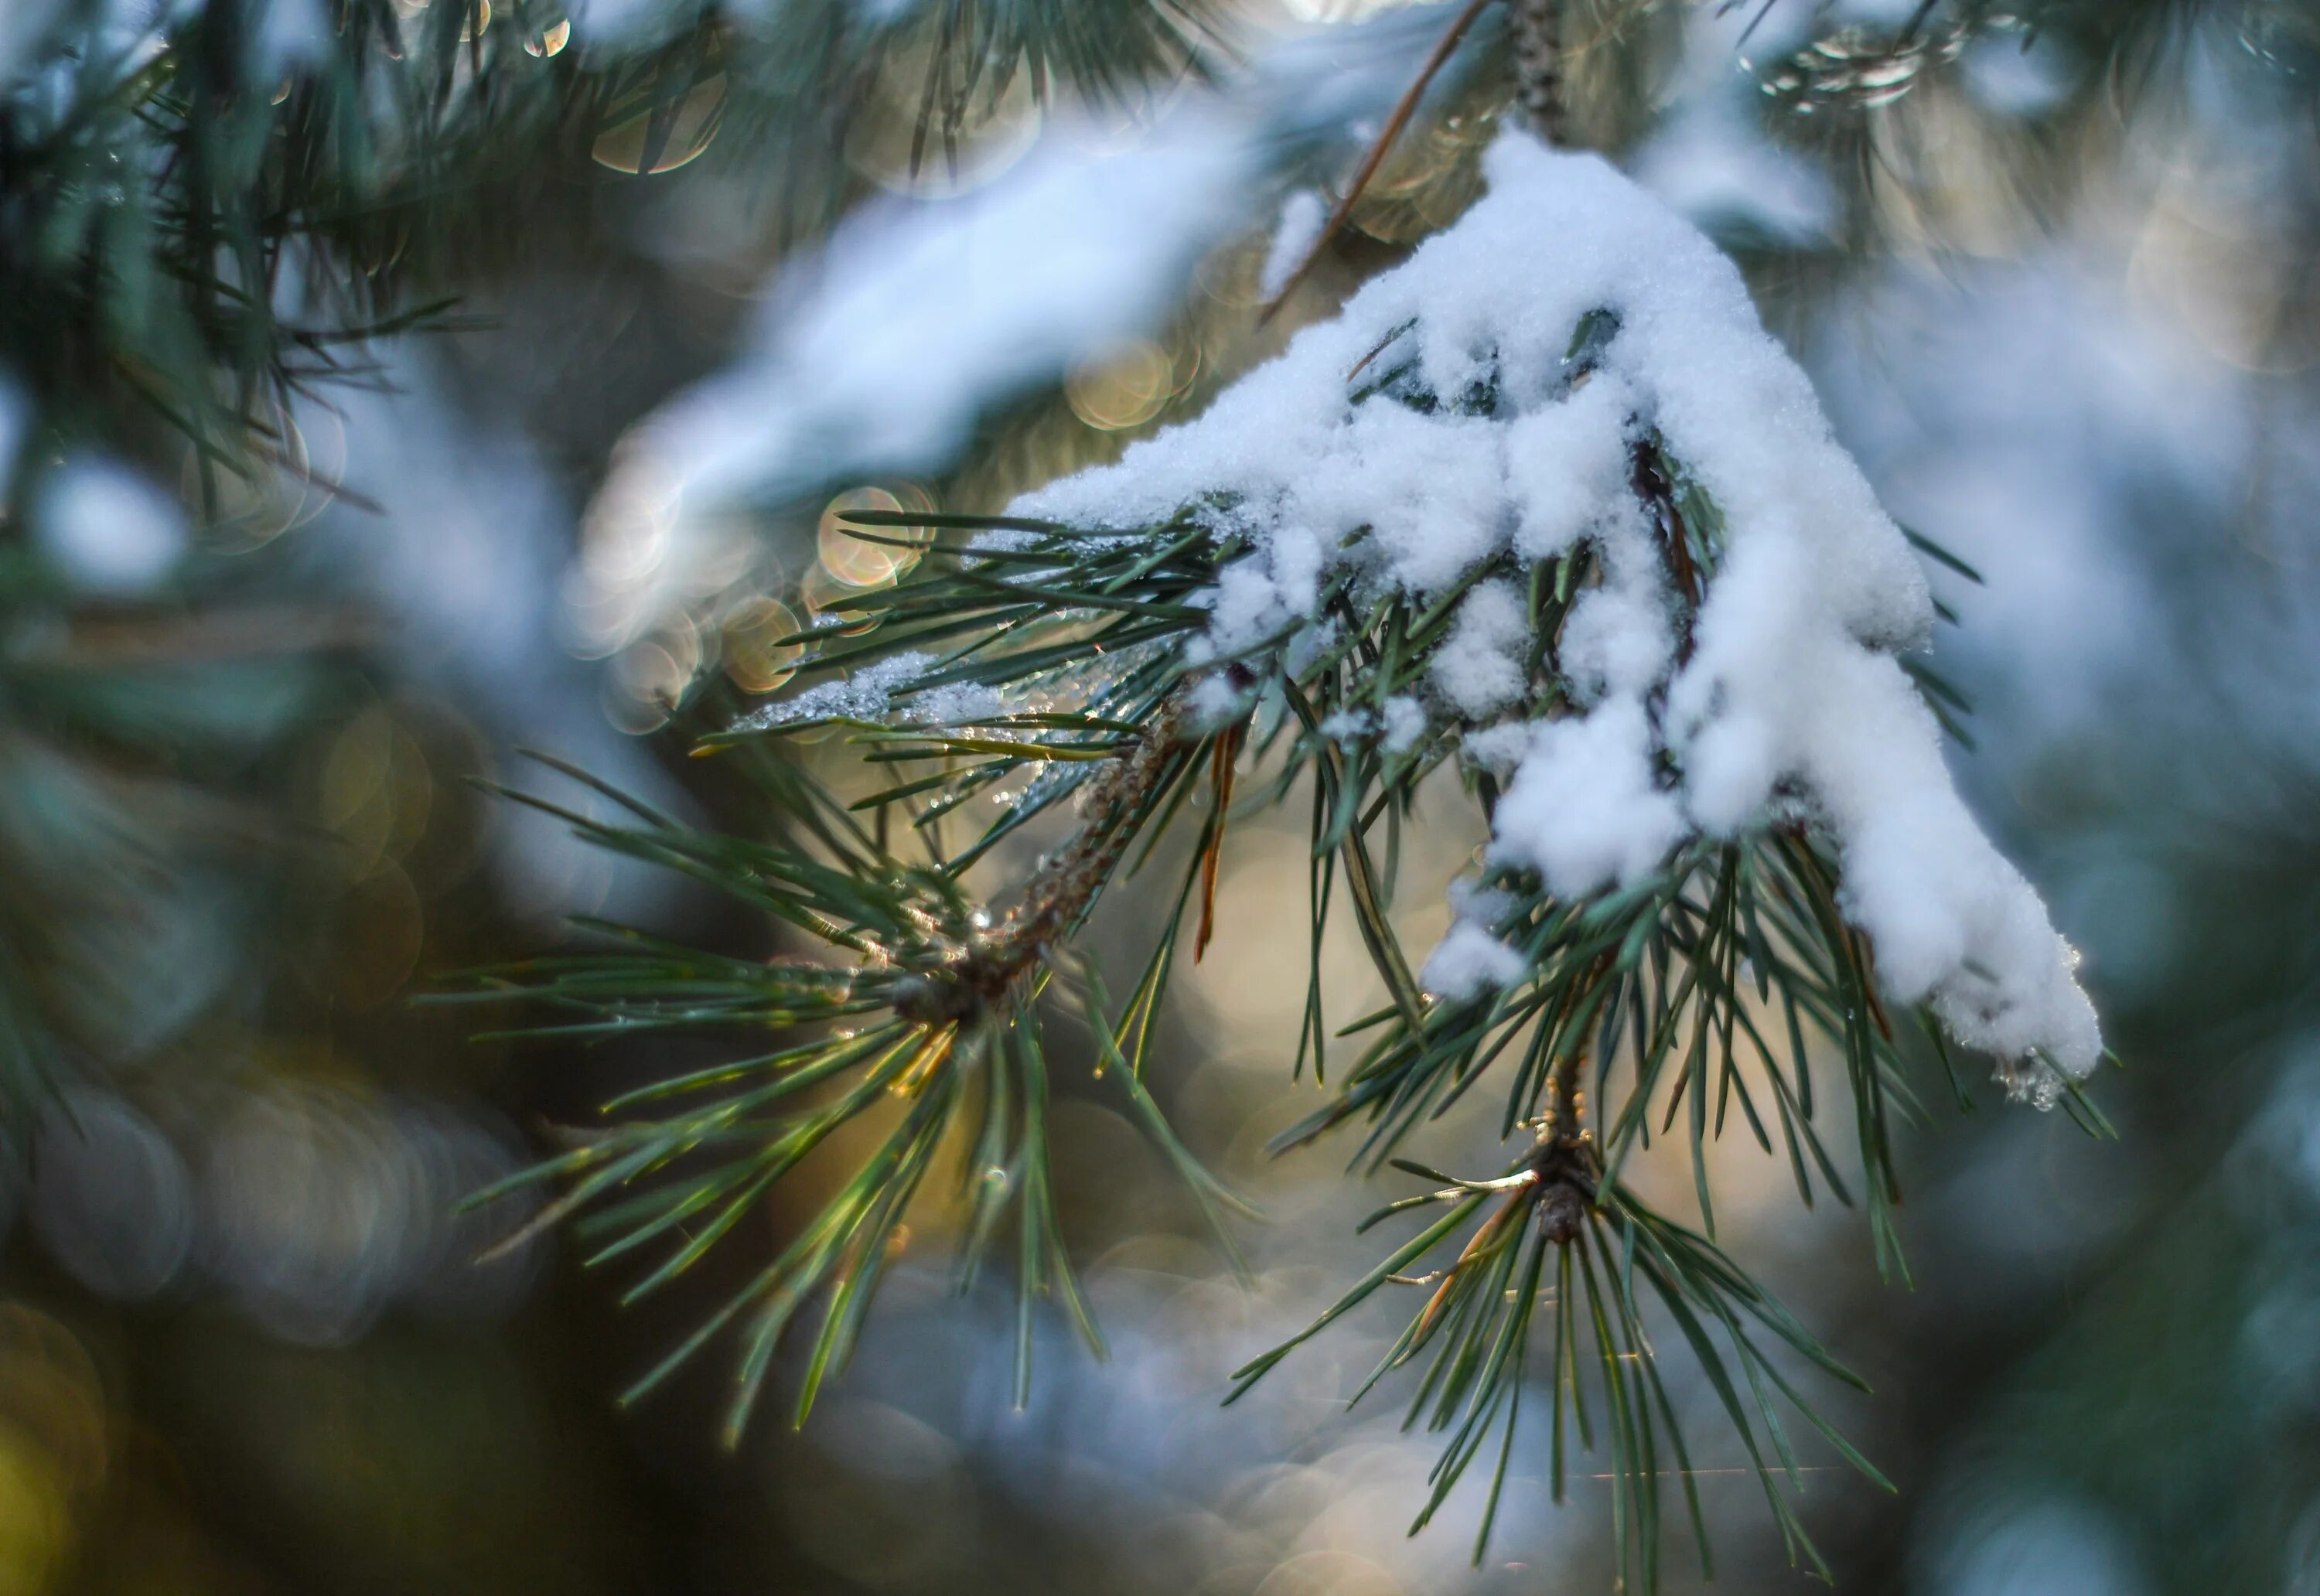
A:
<svg viewBox="0 0 2320 1596">
<path fill-rule="evenodd" d="M 677 0 L 619 35 L 573 35 L 554 0 L 322 0 L 316 49 L 288 56 L 267 46 L 271 0 L 162 7 L 151 32 L 111 9 L 67 0 L 0 79 L 0 371 L 56 436 L 181 434 L 204 501 L 218 471 L 295 464 L 292 390 L 371 376 L 371 339 L 455 325 L 455 264 L 506 248 L 483 195 L 619 181 L 589 162 L 610 130 L 645 172 L 677 139 L 777 172 L 768 204 L 814 230 L 861 188 L 840 153 L 854 118 L 891 114 L 863 93 L 889 65 L 923 72 L 923 162 L 1009 84 L 1132 97 L 1216 46 L 1199 0 L 944 0 L 889 21 Z"/>
</svg>

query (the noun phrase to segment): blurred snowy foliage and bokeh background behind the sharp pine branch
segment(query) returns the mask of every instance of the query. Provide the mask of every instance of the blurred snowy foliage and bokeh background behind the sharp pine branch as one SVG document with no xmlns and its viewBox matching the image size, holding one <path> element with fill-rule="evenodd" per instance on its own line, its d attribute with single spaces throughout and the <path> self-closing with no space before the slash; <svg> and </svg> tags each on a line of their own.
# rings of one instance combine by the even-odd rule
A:
<svg viewBox="0 0 2320 1596">
<path fill-rule="evenodd" d="M 1387 1313 L 1213 1406 L 1366 1257 L 1373 1192 L 1260 1153 L 1311 1107 L 1295 826 L 1227 849 L 1155 1065 L 1269 1213 L 1257 1287 L 1060 1086 L 1114 1359 L 1056 1336 L 1021 1415 L 1007 1292 L 947 1294 L 935 1206 L 805 1434 L 719 1452 L 715 1376 L 615 1410 L 719 1281 L 622 1313 L 522 1211 L 452 1204 L 684 1060 L 408 1004 L 571 912 L 777 953 L 469 777 L 541 747 L 747 830 L 747 766 L 682 754 L 898 575 L 835 510 L 1107 459 L 1452 220 L 1510 116 L 1494 12 L 1257 322 L 1276 218 L 1336 197 L 1455 9 L 0 12 L 0 1591 L 1608 1584 L 1601 1501 L 1547 1510 L 1536 1459 L 1485 1568 L 1404 1540 L 1429 1450 L 1341 1408 Z M 1912 1292 L 1726 1153 L 1735 1250 L 1879 1387 L 1842 1417 L 1902 1496 L 1807 1480 L 1840 1584 L 2320 1591 L 2320 12 L 1561 28 L 1578 137 L 1747 264 L 1893 510 L 1991 578 L 1946 594 L 1956 770 L 2132 1065 L 2118 1144 L 1912 1139 Z M 1418 944 L 1478 842 L 1452 798 L 1408 840 Z M 1097 953 L 1160 912 L 1123 895 Z M 1329 958 L 1357 1011 L 1362 951 Z M 1740 1459 L 1696 1461 L 1719 1584 L 1789 1589 Z"/>
</svg>

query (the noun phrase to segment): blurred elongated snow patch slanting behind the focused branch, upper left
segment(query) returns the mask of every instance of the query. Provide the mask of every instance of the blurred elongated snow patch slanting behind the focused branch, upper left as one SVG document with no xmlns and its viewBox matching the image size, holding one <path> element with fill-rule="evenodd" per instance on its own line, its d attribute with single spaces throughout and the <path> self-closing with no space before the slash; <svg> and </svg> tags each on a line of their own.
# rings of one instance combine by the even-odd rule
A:
<svg viewBox="0 0 2320 1596">
<path fill-rule="evenodd" d="M 654 14 L 594 0 L 573 26 L 633 42 Z M 1438 30 L 1415 7 L 1278 37 L 1128 130 L 1058 100 L 988 186 L 865 202 L 784 255 L 728 364 L 626 436 L 589 513 L 617 568 L 573 578 L 582 645 L 608 654 L 703 612 L 763 561 L 761 510 L 935 476 L 998 406 L 1158 332 L 1199 260 L 1260 220 L 1267 174 L 1383 116 Z"/>
</svg>

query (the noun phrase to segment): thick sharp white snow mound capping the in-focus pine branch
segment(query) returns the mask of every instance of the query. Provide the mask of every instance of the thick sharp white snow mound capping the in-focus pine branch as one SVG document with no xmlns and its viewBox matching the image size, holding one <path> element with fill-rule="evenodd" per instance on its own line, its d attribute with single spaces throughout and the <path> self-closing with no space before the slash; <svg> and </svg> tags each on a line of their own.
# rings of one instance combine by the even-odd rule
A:
<svg viewBox="0 0 2320 1596">
<path fill-rule="evenodd" d="M 1687 835 L 1805 814 L 1835 840 L 1842 909 L 1895 1000 L 1930 1000 L 1960 1042 L 2086 1076 L 2102 1039 L 2076 953 L 1958 800 L 1895 659 L 1930 638 L 1923 571 L 1738 269 L 1594 155 L 1508 135 L 1487 179 L 1464 220 L 1206 415 L 1009 513 L 1128 529 L 1230 503 L 1257 552 L 1216 596 L 1206 656 L 1318 624 L 1343 566 L 1429 596 L 1487 559 L 1592 545 L 1603 580 L 1561 629 L 1578 712 L 1506 719 L 1531 643 L 1508 582 L 1459 598 L 1431 663 L 1427 724 L 1480 724 L 1492 759 L 1513 761 L 1492 856 L 1585 895 L 1647 877 Z M 1573 334 L 1605 311 L 1612 332 L 1575 383 Z M 1357 397 L 1390 378 L 1482 399 Z M 1645 431 L 1724 517 L 1689 654 L 1631 476 Z M 1408 712 L 1397 735 L 1415 740 Z M 1485 953 L 1487 933 L 1459 919 L 1441 986 L 1510 979 L 1520 965 Z"/>
</svg>

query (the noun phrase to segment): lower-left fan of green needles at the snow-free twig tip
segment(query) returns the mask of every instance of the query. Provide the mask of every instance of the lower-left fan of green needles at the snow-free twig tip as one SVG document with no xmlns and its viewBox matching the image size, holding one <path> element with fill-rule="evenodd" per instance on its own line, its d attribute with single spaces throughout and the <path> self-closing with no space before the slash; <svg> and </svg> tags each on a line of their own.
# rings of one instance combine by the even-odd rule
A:
<svg viewBox="0 0 2320 1596">
<path fill-rule="evenodd" d="M 1056 717 L 1072 719 L 1072 717 Z M 1100 719 L 1100 717 L 1088 717 Z M 1086 721 L 1070 726 L 1086 731 Z M 981 747 L 1005 745 L 1005 738 Z M 1104 814 L 1109 863 L 1155 812 L 1172 810 L 1197 779 L 1206 749 L 1172 749 L 1148 782 L 1118 793 Z M 643 1297 L 717 1246 L 786 1174 L 854 1123 L 886 1123 L 884 1139 L 770 1264 L 728 1299 L 631 1396 L 659 1385 L 728 1322 L 740 1322 L 740 1390 L 726 1434 L 738 1441 L 773 1366 L 782 1332 L 817 1294 L 821 1327 L 800 1380 L 803 1422 L 828 1373 L 844 1366 L 912 1199 L 949 1158 L 954 1197 L 967 1206 L 958 1287 L 972 1285 L 1005 1225 L 1016 1227 L 1016 1401 L 1028 1399 L 1032 1304 L 1056 1297 L 1088 1345 L 1102 1336 L 1063 1250 L 1046 1148 L 1049 1065 L 1042 998 L 1070 1000 L 1100 1044 L 1132 1116 L 1183 1171 L 1223 1234 L 1227 1211 L 1248 1213 L 1183 1151 L 1144 1088 L 1144 1053 L 1167 979 L 1174 926 L 1197 879 L 1188 872 L 1169 937 L 1128 1009 L 1114 1018 L 1102 979 L 1028 926 L 1053 909 L 1076 923 L 1109 863 L 1086 877 L 1035 884 L 1025 912 L 993 923 L 965 893 L 963 861 L 896 858 L 810 777 L 761 766 L 766 796 L 784 821 L 777 842 L 747 842 L 680 826 L 624 798 L 643 824 L 608 826 L 575 812 L 573 826 L 603 847 L 682 870 L 824 944 L 831 963 L 722 958 L 670 946 L 638 930 L 592 923 L 619 951 L 531 960 L 478 977 L 480 998 L 522 988 L 566 1011 L 550 1035 L 615 1037 L 640 1030 L 789 1032 L 803 1039 L 752 1058 L 629 1093 L 608 1113 L 659 1113 L 589 1139 L 478 1202 L 543 1178 L 566 1192 L 541 1213 L 554 1223 L 594 1204 L 582 1234 L 599 1241 L 592 1264 L 643 1248 L 659 1262 L 629 1290 Z M 575 775 L 578 772 L 568 772 Z M 580 777 L 585 779 L 585 777 Z M 538 803 L 538 800 L 531 800 Z M 548 805 L 541 805 L 548 807 Z M 884 833 L 884 826 L 879 826 Z M 1037 895 L 1049 893 L 1049 895 Z M 541 1035 L 534 1030 L 531 1035 Z M 1230 1239 L 1225 1239 L 1230 1248 Z"/>
</svg>

